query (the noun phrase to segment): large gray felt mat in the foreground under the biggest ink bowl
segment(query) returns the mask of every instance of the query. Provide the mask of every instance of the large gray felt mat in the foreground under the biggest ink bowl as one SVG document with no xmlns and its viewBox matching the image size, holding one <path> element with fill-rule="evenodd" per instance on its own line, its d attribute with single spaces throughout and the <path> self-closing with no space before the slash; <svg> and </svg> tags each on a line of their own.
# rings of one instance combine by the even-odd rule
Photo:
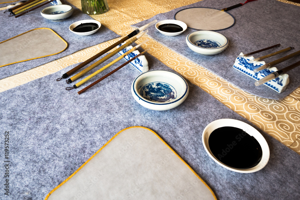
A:
<svg viewBox="0 0 300 200">
<path fill-rule="evenodd" d="M 170 70 L 149 54 L 146 58 L 150 70 Z M 140 75 L 134 67 L 123 67 L 80 95 L 80 88 L 66 91 L 70 86 L 56 81 L 72 67 L 0 93 L 0 130 L 9 131 L 10 145 L 6 160 L 10 161 L 11 187 L 5 199 L 45 198 L 116 133 L 132 126 L 157 133 L 218 199 L 300 199 L 300 156 L 264 132 L 270 160 L 258 172 L 232 172 L 208 156 L 202 145 L 206 125 L 221 118 L 250 123 L 198 86 L 189 83 L 187 99 L 178 107 L 154 111 L 131 95 L 131 84 Z M 4 152 L 4 145 L 0 151 Z M 4 183 L 4 167 L 0 170 Z M 0 199 L 4 199 L 3 191 Z"/>
</svg>

